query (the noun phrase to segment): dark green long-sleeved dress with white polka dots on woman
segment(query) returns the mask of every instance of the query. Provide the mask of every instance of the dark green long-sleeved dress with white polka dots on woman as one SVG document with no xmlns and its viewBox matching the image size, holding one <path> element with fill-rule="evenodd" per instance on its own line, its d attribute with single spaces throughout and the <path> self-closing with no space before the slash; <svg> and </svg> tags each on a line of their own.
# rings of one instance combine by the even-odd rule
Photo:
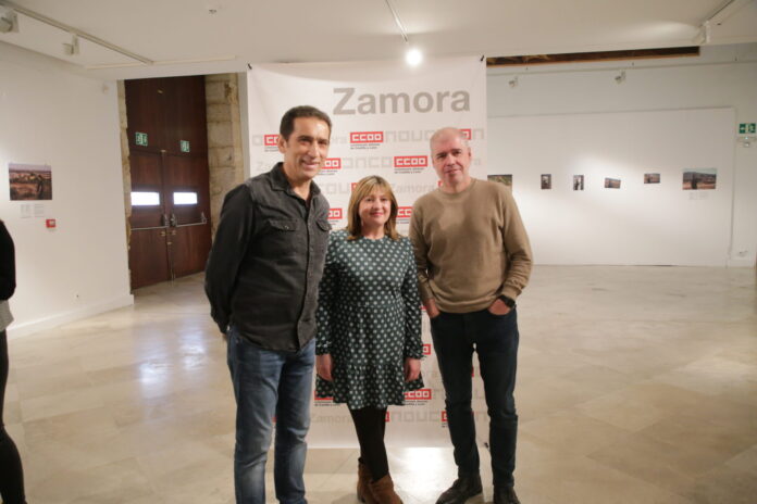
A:
<svg viewBox="0 0 757 504">
<path fill-rule="evenodd" d="M 319 398 L 350 410 L 404 404 L 406 357 L 421 358 L 421 300 L 410 240 L 328 238 L 319 292 L 315 353 L 334 362 L 333 382 L 317 378 Z"/>
</svg>

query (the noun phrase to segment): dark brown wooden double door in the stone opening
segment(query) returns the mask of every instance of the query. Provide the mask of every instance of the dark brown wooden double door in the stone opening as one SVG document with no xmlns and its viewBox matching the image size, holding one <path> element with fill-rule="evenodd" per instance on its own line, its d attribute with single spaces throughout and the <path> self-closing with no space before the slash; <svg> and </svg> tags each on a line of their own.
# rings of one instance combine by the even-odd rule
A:
<svg viewBox="0 0 757 504">
<path fill-rule="evenodd" d="M 201 272 L 211 243 L 204 77 L 126 80 L 132 288 Z"/>
</svg>

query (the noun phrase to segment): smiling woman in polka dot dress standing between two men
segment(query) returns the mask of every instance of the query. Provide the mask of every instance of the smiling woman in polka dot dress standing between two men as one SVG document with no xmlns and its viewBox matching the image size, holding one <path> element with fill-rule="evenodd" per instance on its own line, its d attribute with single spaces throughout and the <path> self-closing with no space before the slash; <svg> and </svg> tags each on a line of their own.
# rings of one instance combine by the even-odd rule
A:
<svg viewBox="0 0 757 504">
<path fill-rule="evenodd" d="M 384 446 L 389 404 L 421 379 L 421 300 L 412 245 L 396 229 L 397 200 L 381 177 L 352 190 L 347 229 L 328 238 L 318 307 L 315 391 L 346 403 L 360 442 L 358 499 L 401 503 Z"/>
</svg>

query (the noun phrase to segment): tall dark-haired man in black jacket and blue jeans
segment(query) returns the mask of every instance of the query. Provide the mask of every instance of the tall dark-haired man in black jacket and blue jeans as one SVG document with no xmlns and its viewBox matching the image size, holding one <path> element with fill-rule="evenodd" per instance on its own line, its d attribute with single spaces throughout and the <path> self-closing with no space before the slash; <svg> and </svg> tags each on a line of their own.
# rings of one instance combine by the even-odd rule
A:
<svg viewBox="0 0 757 504">
<path fill-rule="evenodd" d="M 265 462 L 276 420 L 274 481 L 282 503 L 305 500 L 315 303 L 328 239 L 328 202 L 312 182 L 331 119 L 312 106 L 282 118 L 284 162 L 224 199 L 206 269 L 211 315 L 228 340 L 237 401 L 237 503 L 265 502 Z"/>
</svg>

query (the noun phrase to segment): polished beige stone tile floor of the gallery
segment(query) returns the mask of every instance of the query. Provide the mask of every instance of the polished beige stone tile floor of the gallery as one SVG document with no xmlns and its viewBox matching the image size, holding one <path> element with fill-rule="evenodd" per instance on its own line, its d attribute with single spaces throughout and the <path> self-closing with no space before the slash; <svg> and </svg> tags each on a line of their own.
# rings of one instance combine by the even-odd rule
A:
<svg viewBox="0 0 757 504">
<path fill-rule="evenodd" d="M 541 266 L 519 318 L 523 504 L 757 502 L 754 269 Z M 30 504 L 232 502 L 234 401 L 201 277 L 10 353 Z M 389 455 L 406 503 L 454 479 L 448 449 Z M 357 502 L 356 459 L 311 450 L 310 502 Z"/>
</svg>

